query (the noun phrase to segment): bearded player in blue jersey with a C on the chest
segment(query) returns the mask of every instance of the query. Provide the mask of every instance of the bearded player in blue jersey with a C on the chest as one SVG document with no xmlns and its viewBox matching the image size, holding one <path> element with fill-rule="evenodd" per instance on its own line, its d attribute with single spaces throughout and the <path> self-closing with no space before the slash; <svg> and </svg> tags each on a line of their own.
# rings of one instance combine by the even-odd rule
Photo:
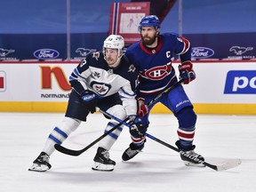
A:
<svg viewBox="0 0 256 192">
<path fill-rule="evenodd" d="M 142 116 L 143 128 L 131 131 L 132 143 L 124 151 L 122 156 L 124 161 L 128 161 L 136 156 L 142 148 L 146 138 L 143 133 L 148 128 L 148 116 L 150 109 L 145 103 L 154 99 L 157 94 L 164 92 L 165 89 L 177 83 L 177 77 L 174 68 L 172 68 L 172 58 L 180 56 L 180 78 L 184 79 L 184 84 L 189 84 L 196 78 L 191 62 L 191 46 L 189 41 L 171 33 L 160 35 L 160 20 L 156 15 L 149 15 L 140 21 L 141 40 L 132 44 L 125 52 L 128 59 L 140 71 L 140 84 L 137 98 L 139 101 L 138 115 Z M 165 94 L 163 98 L 157 100 L 169 108 L 179 122 L 177 130 L 179 140 L 176 145 L 180 150 L 192 154 L 197 158 L 204 160 L 203 156 L 196 154 L 193 145 L 196 114 L 193 105 L 184 92 L 182 85 L 178 86 L 172 92 Z M 155 103 L 156 104 L 156 103 Z M 193 161 L 180 156 L 186 165 L 204 166 L 204 164 L 195 164 Z"/>
</svg>

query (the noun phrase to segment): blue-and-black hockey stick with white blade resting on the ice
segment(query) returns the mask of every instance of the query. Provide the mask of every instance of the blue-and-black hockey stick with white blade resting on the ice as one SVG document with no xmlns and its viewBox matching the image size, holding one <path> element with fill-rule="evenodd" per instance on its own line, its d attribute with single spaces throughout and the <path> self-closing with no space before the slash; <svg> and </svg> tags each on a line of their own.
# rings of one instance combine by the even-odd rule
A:
<svg viewBox="0 0 256 192">
<path fill-rule="evenodd" d="M 103 114 L 106 115 L 106 116 L 109 116 L 109 117 L 115 119 L 117 122 L 122 123 L 122 124 L 124 124 L 125 126 L 127 126 L 127 127 L 129 127 L 129 128 L 132 128 L 132 124 L 127 124 L 126 122 L 122 121 L 121 119 L 117 118 L 116 116 L 112 116 L 112 115 L 109 114 L 108 112 L 104 112 L 104 111 L 102 111 L 102 110 L 100 110 L 100 112 L 103 113 Z M 145 135 L 146 135 L 148 138 L 150 138 L 151 140 L 155 140 L 156 142 L 158 142 L 158 143 L 164 145 L 164 146 L 167 147 L 167 148 L 172 148 L 172 150 L 174 150 L 174 151 L 180 153 L 181 156 L 185 156 L 185 157 L 191 159 L 191 160 L 194 161 L 196 164 L 204 164 L 205 166 L 210 167 L 210 168 L 212 168 L 212 169 L 215 170 L 215 171 L 219 171 L 219 172 L 220 172 L 220 171 L 225 171 L 225 170 L 234 168 L 234 167 L 236 167 L 236 166 L 238 166 L 239 164 L 242 163 L 242 161 L 241 161 L 240 159 L 230 159 L 230 160 L 228 160 L 228 162 L 226 162 L 225 164 L 221 164 L 221 165 L 209 164 L 209 163 L 207 163 L 207 162 L 205 162 L 205 161 L 202 161 L 202 160 L 196 158 L 196 156 L 186 154 L 186 152 L 180 150 L 179 148 L 175 148 L 175 147 L 173 147 L 172 145 L 170 145 L 170 144 L 164 142 L 163 140 L 159 140 L 159 139 L 157 139 L 156 137 L 154 137 L 154 136 L 148 134 L 147 132 L 145 132 Z"/>
</svg>

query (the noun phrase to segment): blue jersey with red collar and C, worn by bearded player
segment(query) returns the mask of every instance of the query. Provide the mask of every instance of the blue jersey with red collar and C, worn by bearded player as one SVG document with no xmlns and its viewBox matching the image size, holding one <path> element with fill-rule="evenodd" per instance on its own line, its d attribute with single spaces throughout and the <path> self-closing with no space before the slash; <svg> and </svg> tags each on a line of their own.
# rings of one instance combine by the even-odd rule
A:
<svg viewBox="0 0 256 192">
<path fill-rule="evenodd" d="M 163 92 L 177 81 L 172 58 L 180 56 L 181 62 L 191 60 L 189 41 L 174 34 L 157 38 L 156 48 L 147 48 L 142 41 L 132 44 L 125 52 L 128 59 L 140 70 L 138 97 Z"/>
</svg>

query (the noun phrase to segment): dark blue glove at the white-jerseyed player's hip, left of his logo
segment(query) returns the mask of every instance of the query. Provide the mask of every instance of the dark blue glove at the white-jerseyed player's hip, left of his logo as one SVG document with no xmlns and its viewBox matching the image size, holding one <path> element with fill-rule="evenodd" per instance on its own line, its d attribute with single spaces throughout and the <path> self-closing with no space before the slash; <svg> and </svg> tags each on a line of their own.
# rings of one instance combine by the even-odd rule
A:
<svg viewBox="0 0 256 192">
<path fill-rule="evenodd" d="M 97 99 L 96 94 L 94 92 L 85 91 L 81 95 L 81 99 L 83 100 L 84 108 L 88 108 L 91 113 L 96 111 Z"/>
</svg>

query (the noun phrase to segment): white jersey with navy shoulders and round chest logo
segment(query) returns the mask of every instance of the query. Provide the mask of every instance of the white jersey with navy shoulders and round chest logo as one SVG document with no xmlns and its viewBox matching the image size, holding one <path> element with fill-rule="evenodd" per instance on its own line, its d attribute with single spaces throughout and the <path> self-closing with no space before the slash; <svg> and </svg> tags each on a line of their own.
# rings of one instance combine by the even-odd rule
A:
<svg viewBox="0 0 256 192">
<path fill-rule="evenodd" d="M 92 52 L 74 69 L 69 82 L 79 95 L 89 90 L 103 98 L 118 92 L 127 115 L 132 116 L 137 112 L 138 76 L 139 71 L 125 56 L 117 68 L 109 68 L 102 52 Z"/>
</svg>

